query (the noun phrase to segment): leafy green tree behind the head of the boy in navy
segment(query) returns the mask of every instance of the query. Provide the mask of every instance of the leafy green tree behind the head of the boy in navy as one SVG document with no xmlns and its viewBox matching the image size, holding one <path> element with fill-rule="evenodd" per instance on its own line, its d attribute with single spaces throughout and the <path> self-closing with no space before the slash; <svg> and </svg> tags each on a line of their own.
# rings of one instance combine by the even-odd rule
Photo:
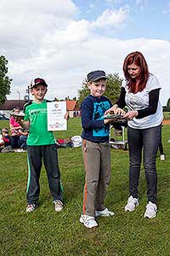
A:
<svg viewBox="0 0 170 256">
<path fill-rule="evenodd" d="M 122 79 L 119 77 L 118 73 L 107 74 L 107 86 L 105 90 L 105 96 L 110 98 L 111 102 L 114 104 L 118 99 L 121 91 Z M 78 104 L 80 105 L 83 99 L 88 96 L 88 80 L 84 79 L 82 81 L 82 89 L 78 90 Z"/>
</svg>

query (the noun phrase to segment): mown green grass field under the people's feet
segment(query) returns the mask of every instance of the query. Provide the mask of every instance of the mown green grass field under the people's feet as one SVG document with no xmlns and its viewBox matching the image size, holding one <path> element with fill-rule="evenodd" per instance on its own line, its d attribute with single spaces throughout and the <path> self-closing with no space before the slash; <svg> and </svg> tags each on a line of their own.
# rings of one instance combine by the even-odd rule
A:
<svg viewBox="0 0 170 256">
<path fill-rule="evenodd" d="M 0 128 L 8 126 L 0 122 Z M 98 218 L 95 230 L 79 222 L 82 212 L 84 170 L 81 148 L 59 148 L 59 167 L 64 185 L 65 209 L 54 212 L 44 168 L 40 179 L 39 207 L 26 213 L 26 153 L 0 154 L 0 255 L 170 255 L 170 138 L 169 125 L 162 127 L 166 160 L 157 154 L 158 214 L 145 219 L 146 185 L 142 168 L 139 179 L 139 207 L 124 212 L 128 197 L 128 151 L 111 149 L 111 185 L 105 206 L 115 212 Z M 80 119 L 70 119 L 68 131 L 58 138 L 81 135 Z"/>
</svg>

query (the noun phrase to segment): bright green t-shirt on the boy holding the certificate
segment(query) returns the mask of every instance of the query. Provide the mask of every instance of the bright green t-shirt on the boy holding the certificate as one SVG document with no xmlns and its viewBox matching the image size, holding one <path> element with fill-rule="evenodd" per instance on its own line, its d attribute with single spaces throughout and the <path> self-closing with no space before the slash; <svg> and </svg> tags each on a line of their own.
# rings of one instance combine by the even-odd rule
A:
<svg viewBox="0 0 170 256">
<path fill-rule="evenodd" d="M 31 102 L 26 106 L 25 121 L 30 121 L 28 146 L 51 145 L 55 143 L 53 131 L 48 131 L 47 101 Z"/>
</svg>

